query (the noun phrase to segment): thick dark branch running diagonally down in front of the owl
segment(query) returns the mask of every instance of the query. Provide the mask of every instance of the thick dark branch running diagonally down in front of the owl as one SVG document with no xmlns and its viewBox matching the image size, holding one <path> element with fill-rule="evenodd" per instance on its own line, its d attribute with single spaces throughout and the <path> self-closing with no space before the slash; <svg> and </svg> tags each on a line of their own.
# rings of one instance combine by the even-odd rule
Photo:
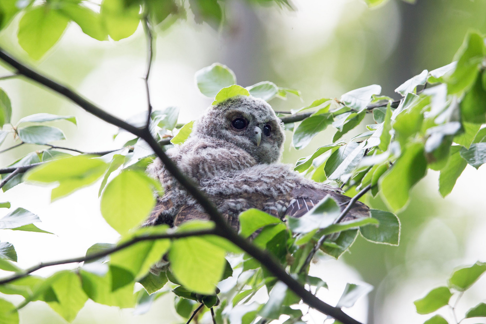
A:
<svg viewBox="0 0 486 324">
<path fill-rule="evenodd" d="M 156 139 L 150 134 L 150 131 L 147 128 L 135 127 L 105 112 L 103 109 L 99 108 L 92 102 L 89 102 L 87 99 L 83 98 L 73 90 L 69 89 L 67 86 L 56 83 L 51 79 L 37 73 L 33 69 L 21 64 L 2 48 L 0 48 L 0 60 L 7 63 L 12 68 L 15 68 L 19 74 L 31 80 L 34 80 L 41 85 L 45 85 L 53 91 L 65 96 L 72 102 L 78 104 L 87 112 L 95 115 L 96 117 L 110 124 L 118 126 L 134 134 L 135 136 L 141 137 L 154 150 L 162 163 L 164 163 L 167 171 L 169 171 L 174 176 L 174 178 L 181 184 L 181 186 L 183 186 L 186 191 L 191 194 L 196 202 L 203 207 L 204 211 L 210 216 L 211 221 L 216 224 L 215 231 L 218 236 L 228 239 L 229 241 L 240 247 L 243 251 L 248 253 L 250 256 L 253 256 L 256 260 L 260 262 L 262 266 L 267 268 L 280 281 L 285 283 L 290 290 L 292 290 L 296 295 L 301 297 L 302 301 L 310 307 L 315 308 L 324 314 L 330 315 L 331 317 L 342 322 L 343 324 L 361 324 L 360 322 L 356 321 L 345 312 L 343 312 L 341 308 L 332 307 L 314 296 L 309 290 L 306 290 L 305 287 L 301 285 L 296 279 L 289 275 L 280 265 L 280 263 L 275 260 L 275 258 L 271 256 L 267 251 L 261 250 L 259 247 L 250 243 L 247 239 L 243 239 L 243 237 L 239 236 L 231 228 L 231 226 L 226 223 L 223 215 L 218 211 L 216 206 L 208 199 L 208 197 L 202 191 L 200 191 L 196 187 L 194 182 L 187 178 L 175 165 L 175 163 L 167 156 L 167 154 L 165 154 L 165 152 L 158 145 Z"/>
</svg>

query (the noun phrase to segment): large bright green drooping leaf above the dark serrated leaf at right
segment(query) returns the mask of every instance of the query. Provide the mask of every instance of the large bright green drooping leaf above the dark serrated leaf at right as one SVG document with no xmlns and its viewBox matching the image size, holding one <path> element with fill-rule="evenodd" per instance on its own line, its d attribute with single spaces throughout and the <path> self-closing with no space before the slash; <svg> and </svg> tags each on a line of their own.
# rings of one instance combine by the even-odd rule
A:
<svg viewBox="0 0 486 324">
<path fill-rule="evenodd" d="M 402 209 L 408 202 L 410 189 L 426 172 L 423 144 L 411 143 L 379 181 L 386 204 L 395 211 Z"/>
</svg>

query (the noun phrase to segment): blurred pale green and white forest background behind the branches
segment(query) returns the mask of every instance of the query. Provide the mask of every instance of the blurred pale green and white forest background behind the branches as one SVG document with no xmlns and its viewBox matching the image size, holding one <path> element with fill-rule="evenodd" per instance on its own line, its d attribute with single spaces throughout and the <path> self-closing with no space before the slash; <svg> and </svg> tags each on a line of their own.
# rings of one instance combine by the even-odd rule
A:
<svg viewBox="0 0 486 324">
<path fill-rule="evenodd" d="M 196 24 L 192 14 L 185 22 L 156 30 L 156 60 L 150 79 L 154 109 L 179 106 L 179 122 L 199 117 L 211 100 L 197 90 L 194 73 L 214 62 L 233 69 L 242 86 L 268 80 L 302 91 L 302 101 L 292 95 L 287 101 L 273 99 L 270 103 L 278 110 L 297 109 L 318 98 L 339 98 L 371 84 L 382 85 L 382 94 L 398 98 L 394 93 L 398 85 L 423 69 L 450 63 L 467 30 L 486 33 L 486 0 L 419 0 L 415 4 L 390 0 L 373 9 L 362 0 L 295 0 L 293 4 L 295 10 L 233 0 L 227 2 L 227 23 L 220 32 Z M 17 57 L 121 118 L 146 109 L 141 26 L 119 42 L 100 42 L 72 24 L 52 51 L 33 62 L 17 44 L 18 20 L 0 34 L 0 44 Z M 9 71 L 0 68 L 0 74 Z M 122 134 L 113 140 L 115 126 L 31 82 L 9 79 L 0 81 L 0 86 L 12 101 L 14 123 L 38 112 L 75 115 L 77 127 L 65 121 L 52 122 L 66 134 L 62 146 L 102 151 L 118 148 L 130 138 Z M 365 119 L 363 125 L 371 122 Z M 330 143 L 333 133 L 328 129 L 311 145 L 295 151 L 291 148 L 292 133 L 287 132 L 283 161 L 293 164 L 313 153 Z M 0 150 L 12 145 L 7 140 Z M 1 166 L 35 149 L 23 145 L 2 153 Z M 349 311 L 357 319 L 369 324 L 423 323 L 430 316 L 417 315 L 414 300 L 445 285 L 455 267 L 486 261 L 486 169 L 468 165 L 445 199 L 440 197 L 437 183 L 438 172 L 429 171 L 414 188 L 409 206 L 398 215 L 402 225 L 399 247 L 359 238 L 339 261 L 322 259 L 313 265 L 311 273 L 330 284 L 330 292 L 321 296 L 324 300 L 336 303 L 346 281 L 364 281 L 374 290 Z M 115 242 L 118 234 L 99 211 L 98 188 L 84 188 L 52 204 L 49 188 L 21 184 L 0 193 L 0 201 L 38 214 L 42 220 L 38 226 L 56 234 L 1 231 L 2 241 L 15 245 L 19 266 L 80 256 L 96 242 Z M 386 209 L 379 198 L 369 203 Z M 3 216 L 7 210 L 0 212 Z M 55 270 L 59 268 L 45 268 L 37 274 L 49 275 Z M 18 296 L 2 297 L 21 300 Z M 73 323 L 181 323 L 172 301 L 170 294 L 165 295 L 144 315 L 88 302 Z M 486 302 L 486 277 L 464 295 L 458 304 L 459 316 L 481 301 Z M 450 317 L 448 309 L 444 315 Z M 23 324 L 65 323 L 41 302 L 22 309 L 20 318 Z M 324 318 L 311 314 L 308 320 L 322 323 Z M 475 319 L 462 323 L 486 322 Z"/>
</svg>

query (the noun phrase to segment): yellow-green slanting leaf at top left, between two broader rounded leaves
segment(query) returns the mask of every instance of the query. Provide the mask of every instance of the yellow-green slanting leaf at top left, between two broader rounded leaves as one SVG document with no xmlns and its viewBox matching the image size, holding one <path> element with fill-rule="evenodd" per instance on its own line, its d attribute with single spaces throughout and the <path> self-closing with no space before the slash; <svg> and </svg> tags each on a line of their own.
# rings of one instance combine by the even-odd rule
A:
<svg viewBox="0 0 486 324">
<path fill-rule="evenodd" d="M 108 32 L 103 24 L 101 15 L 80 4 L 62 3 L 60 13 L 74 21 L 81 27 L 83 33 L 97 40 L 108 40 Z"/>
</svg>

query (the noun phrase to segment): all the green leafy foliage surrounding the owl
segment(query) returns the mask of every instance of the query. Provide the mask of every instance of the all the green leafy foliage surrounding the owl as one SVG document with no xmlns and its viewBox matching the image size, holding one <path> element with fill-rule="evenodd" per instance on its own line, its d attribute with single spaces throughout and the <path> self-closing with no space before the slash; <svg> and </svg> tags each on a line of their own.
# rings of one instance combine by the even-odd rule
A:
<svg viewBox="0 0 486 324">
<path fill-rule="evenodd" d="M 221 2 L 192 0 L 189 9 L 196 22 L 218 28 L 224 17 Z M 274 2 L 289 5 L 285 0 Z M 373 6 L 383 1 L 367 2 Z M 18 43 L 34 59 L 49 51 L 72 22 L 95 39 L 120 40 L 135 32 L 140 19 L 150 26 L 167 28 L 185 18 L 188 10 L 176 0 L 104 0 L 99 12 L 78 0 L 23 1 L 23 7 L 13 3 L 7 0 L 0 4 L 0 28 L 20 13 Z M 332 144 L 299 159 L 295 171 L 345 188 L 350 195 L 370 190 L 372 196 L 380 195 L 390 210 L 398 212 L 407 205 L 410 190 L 432 169 L 440 171 L 439 191 L 446 196 L 467 164 L 479 168 L 486 163 L 486 132 L 481 128 L 486 122 L 485 62 L 485 38 L 470 32 L 453 63 L 430 72 L 424 70 L 400 85 L 396 89 L 403 96 L 399 102 L 380 97 L 381 86 L 369 85 L 349 91 L 340 99 L 321 98 L 297 109 L 292 116 L 302 118 L 293 131 L 295 149 L 306 147 L 328 127 L 335 128 L 335 135 Z M 285 99 L 289 93 L 300 96 L 298 90 L 269 81 L 242 87 L 237 85 L 233 71 L 217 63 L 198 71 L 195 79 L 201 93 L 214 98 L 213 104 L 240 95 L 266 101 Z M 305 114 L 309 111 L 310 116 Z M 171 144 L 164 145 L 179 145 L 190 136 L 192 122 L 177 128 L 178 113 L 178 108 L 167 107 L 151 111 L 150 118 L 146 113 L 127 122 L 143 127 L 148 119 L 147 129 L 158 142 L 169 137 Z M 375 123 L 357 136 L 342 139 L 358 129 L 366 114 L 372 114 Z M 113 152 L 88 154 L 51 144 L 65 136 L 61 129 L 45 123 L 76 123 L 73 116 L 38 113 L 18 120 L 15 126 L 11 116 L 11 102 L 0 89 L 0 122 L 12 126 L 9 131 L 0 131 L 0 144 L 6 136 L 13 136 L 19 140 L 18 145 L 31 143 L 50 148 L 29 153 L 7 166 L 2 174 L 2 190 L 23 181 L 56 184 L 51 194 L 55 200 L 103 178 L 99 189 L 101 212 L 121 239 L 115 245 L 95 244 L 87 250 L 86 258 L 81 259 L 86 262 L 78 269 L 59 271 L 48 278 L 17 267 L 15 247 L 0 242 L 0 269 L 18 276 L 15 280 L 0 279 L 0 292 L 24 298 L 17 306 L 0 299 L 1 323 L 18 323 L 17 309 L 32 301 L 43 301 L 72 321 L 87 299 L 127 308 L 150 305 L 168 292 L 174 293 L 175 309 L 184 318 L 204 305 L 204 311 L 215 310 L 218 323 L 249 324 L 262 318 L 278 319 L 282 314 L 289 316 L 286 324 L 301 321 L 302 311 L 291 306 L 299 304 L 302 296 L 279 280 L 275 269 L 262 268 L 235 241 L 218 236 L 213 222 L 188 222 L 176 229 L 139 228 L 155 205 L 154 192 L 162 194 L 160 184 L 144 173 L 156 155 L 144 139 L 134 138 Z M 110 177 L 112 173 L 114 177 Z M 0 206 L 10 208 L 8 203 Z M 322 245 L 317 247 L 334 258 L 343 255 L 358 235 L 375 243 L 399 244 L 400 222 L 392 212 L 373 209 L 370 218 L 348 222 L 338 222 L 340 217 L 340 207 L 330 197 L 298 219 L 280 220 L 249 209 L 240 215 L 240 235 L 250 237 L 253 246 L 266 250 L 302 286 L 317 291 L 327 285 L 308 274 L 307 259 L 321 239 Z M 49 233 L 33 224 L 39 221 L 35 214 L 17 208 L 0 219 L 0 229 Z M 189 235 L 198 231 L 206 232 Z M 155 264 L 157 267 L 150 272 Z M 448 305 L 452 289 L 461 294 L 485 271 L 486 265 L 481 262 L 456 271 L 449 287 L 436 288 L 416 301 L 417 312 L 428 314 Z M 218 285 L 229 277 L 236 280 L 227 280 L 226 290 L 221 292 Z M 144 289 L 134 293 L 137 282 Z M 255 294 L 265 290 L 269 293 L 265 303 L 253 301 Z M 336 307 L 352 307 L 370 290 L 367 285 L 349 283 Z M 479 304 L 466 317 L 485 316 L 485 308 Z M 446 322 L 435 315 L 426 323 Z"/>
</svg>

